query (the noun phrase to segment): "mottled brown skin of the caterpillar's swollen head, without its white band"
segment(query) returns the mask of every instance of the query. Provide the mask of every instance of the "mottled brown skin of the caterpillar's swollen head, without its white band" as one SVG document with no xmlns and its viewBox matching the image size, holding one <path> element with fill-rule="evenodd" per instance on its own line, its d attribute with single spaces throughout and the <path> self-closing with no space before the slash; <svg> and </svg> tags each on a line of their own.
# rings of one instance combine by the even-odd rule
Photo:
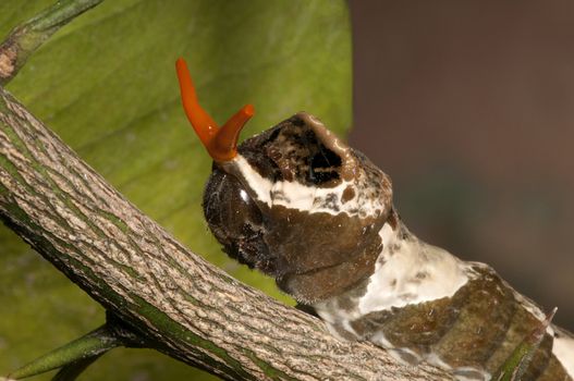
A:
<svg viewBox="0 0 574 381">
<path fill-rule="evenodd" d="M 363 155 L 337 155 L 317 136 L 305 118 L 292 118 L 244 142 L 239 153 L 271 183 L 297 181 L 309 189 L 329 190 L 353 182 L 343 192 L 343 198 L 345 192 L 346 197 L 353 194 L 347 204 L 356 204 L 351 216 L 270 207 L 245 186 L 233 162 L 213 164 L 204 196 L 206 220 L 224 251 L 272 275 L 282 290 L 307 304 L 338 295 L 373 273 L 380 253 L 378 232 L 391 199 L 391 184 L 384 173 Z M 345 165 L 353 170 L 341 173 Z M 242 190 L 247 197 L 241 196 Z M 280 188 L 272 190 L 276 201 L 289 202 L 290 197 L 293 195 Z M 373 213 L 363 213 L 363 202 L 371 199 L 383 202 L 373 206 Z M 338 208 L 329 193 L 314 207 Z"/>
</svg>

